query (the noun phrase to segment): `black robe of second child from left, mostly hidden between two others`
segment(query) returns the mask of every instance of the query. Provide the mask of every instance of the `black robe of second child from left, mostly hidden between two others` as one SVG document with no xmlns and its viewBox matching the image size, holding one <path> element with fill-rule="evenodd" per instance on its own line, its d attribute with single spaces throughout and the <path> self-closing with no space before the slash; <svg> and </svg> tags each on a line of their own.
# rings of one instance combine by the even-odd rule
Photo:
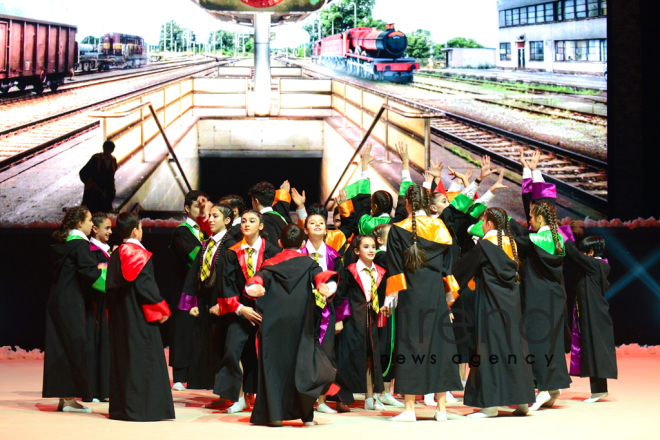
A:
<svg viewBox="0 0 660 440">
<path fill-rule="evenodd" d="M 103 249 L 93 243 L 89 247 L 98 263 L 110 260 L 110 255 Z M 105 293 L 89 288 L 85 296 L 85 307 L 92 311 L 87 315 L 87 367 L 92 395 L 83 396 L 83 401 L 91 402 L 95 397 L 107 399 L 110 396 L 110 340 Z"/>
</svg>

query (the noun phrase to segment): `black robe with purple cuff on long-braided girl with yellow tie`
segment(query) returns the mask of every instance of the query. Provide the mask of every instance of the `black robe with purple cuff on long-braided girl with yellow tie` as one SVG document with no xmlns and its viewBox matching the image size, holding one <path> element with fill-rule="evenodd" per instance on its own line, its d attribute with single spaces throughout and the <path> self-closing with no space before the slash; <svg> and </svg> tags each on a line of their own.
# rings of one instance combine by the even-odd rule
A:
<svg viewBox="0 0 660 440">
<path fill-rule="evenodd" d="M 179 309 L 186 312 L 190 312 L 193 307 L 199 309 L 199 316 L 195 318 L 193 326 L 188 389 L 212 390 L 215 375 L 220 369 L 220 361 L 222 361 L 225 351 L 228 318 L 227 316 L 212 315 L 209 310 L 218 304 L 222 290 L 221 277 L 225 255 L 227 250 L 235 244 L 236 240 L 231 235 L 227 236 L 222 246 L 215 251 L 209 277 L 202 282 L 200 272 L 204 253 L 208 247 L 208 241 L 204 242 L 202 249 L 193 261 L 183 287 Z"/>
</svg>

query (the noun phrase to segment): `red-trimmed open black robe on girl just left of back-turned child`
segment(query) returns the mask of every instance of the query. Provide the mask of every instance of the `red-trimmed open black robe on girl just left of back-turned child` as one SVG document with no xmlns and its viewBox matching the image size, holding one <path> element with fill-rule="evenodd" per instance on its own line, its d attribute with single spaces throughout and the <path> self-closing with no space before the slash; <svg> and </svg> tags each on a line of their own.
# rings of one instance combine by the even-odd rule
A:
<svg viewBox="0 0 660 440">
<path fill-rule="evenodd" d="M 241 246 L 245 239 L 229 248 L 225 255 L 222 268 L 222 292 L 218 298 L 220 313 L 228 319 L 225 352 L 220 362 L 220 369 L 215 376 L 213 392 L 218 396 L 236 402 L 241 391 L 241 383 L 245 393 L 257 391 L 257 326 L 252 325 L 243 316 L 235 312 L 239 304 L 255 308 L 255 301 L 244 295 L 248 279 L 245 266 L 245 251 Z M 261 248 L 256 255 L 255 272 L 263 262 L 282 251 L 267 240 L 262 239 Z M 253 258 L 255 258 L 253 256 Z M 243 371 L 241 371 L 241 365 Z"/>
</svg>

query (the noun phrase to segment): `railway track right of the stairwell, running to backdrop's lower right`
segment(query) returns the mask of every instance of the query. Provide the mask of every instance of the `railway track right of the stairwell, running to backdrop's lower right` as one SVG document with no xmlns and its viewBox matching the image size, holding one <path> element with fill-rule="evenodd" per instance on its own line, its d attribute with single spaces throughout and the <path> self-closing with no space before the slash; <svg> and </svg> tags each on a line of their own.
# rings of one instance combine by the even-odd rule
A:
<svg viewBox="0 0 660 440">
<path fill-rule="evenodd" d="M 327 77 L 308 65 L 298 65 L 308 76 Z M 341 80 L 351 82 L 345 78 Z M 353 84 L 364 87 L 363 84 Z M 439 111 L 437 108 L 382 91 L 377 93 L 389 95 L 424 112 Z M 441 141 L 449 141 L 475 154 L 487 154 L 493 163 L 516 173 L 522 171 L 519 162 L 520 147 L 525 148 L 529 154 L 532 150 L 540 150 L 542 156 L 539 169 L 547 182 L 554 183 L 559 193 L 599 212 L 607 212 L 606 162 L 460 115 L 446 111 L 442 113 L 443 116 L 431 120 L 431 140 L 437 148 L 444 149 Z"/>
</svg>

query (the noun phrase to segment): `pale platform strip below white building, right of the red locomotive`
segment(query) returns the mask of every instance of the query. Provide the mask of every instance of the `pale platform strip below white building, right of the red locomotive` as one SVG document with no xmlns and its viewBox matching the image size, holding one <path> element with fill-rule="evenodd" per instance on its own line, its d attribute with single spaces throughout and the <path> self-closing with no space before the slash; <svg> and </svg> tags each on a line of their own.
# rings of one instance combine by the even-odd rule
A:
<svg viewBox="0 0 660 440">
<path fill-rule="evenodd" d="M 593 75 L 567 75 L 552 72 L 528 72 L 522 70 L 505 69 L 422 69 L 421 72 L 436 71 L 456 76 L 473 76 L 475 78 L 491 79 L 496 81 L 523 81 L 529 84 L 547 84 L 585 89 L 607 91 L 607 80 L 602 76 Z"/>
</svg>

